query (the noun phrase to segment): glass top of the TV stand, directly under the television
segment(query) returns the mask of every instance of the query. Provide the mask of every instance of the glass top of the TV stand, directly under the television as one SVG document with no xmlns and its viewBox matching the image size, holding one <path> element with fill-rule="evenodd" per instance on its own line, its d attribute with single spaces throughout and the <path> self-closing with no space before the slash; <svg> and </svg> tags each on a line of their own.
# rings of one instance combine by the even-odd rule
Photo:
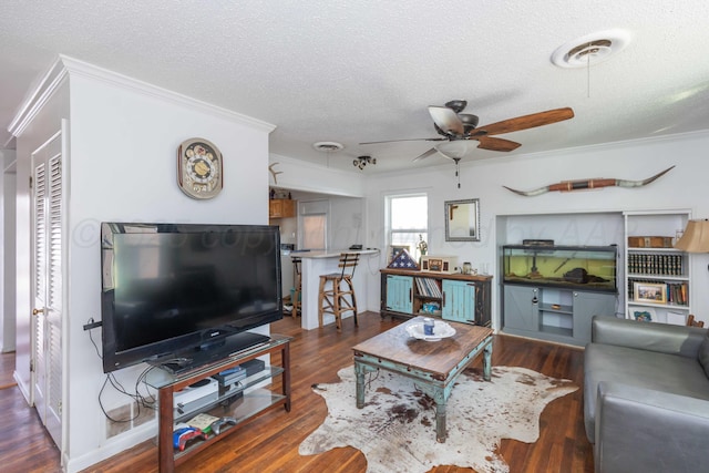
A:
<svg viewBox="0 0 709 473">
<path fill-rule="evenodd" d="M 239 350 L 237 352 L 230 353 L 218 361 L 210 362 L 207 364 L 203 364 L 196 367 L 193 370 L 185 371 L 182 373 L 173 374 L 169 371 L 160 368 L 160 366 L 154 366 L 151 368 L 145 374 L 145 383 L 151 388 L 161 389 L 171 384 L 177 384 L 182 381 L 199 378 L 199 377 L 209 377 L 222 371 L 222 368 L 227 366 L 233 366 L 235 362 L 239 360 L 247 361 L 248 359 L 256 358 L 254 354 L 258 353 L 265 354 L 265 351 L 269 351 L 275 349 L 276 347 L 280 347 L 291 340 L 290 337 L 271 333 L 270 340 L 264 343 L 255 345 L 253 347 L 245 348 L 244 350 Z M 269 368 L 269 367 L 267 367 Z M 278 373 L 274 373 L 271 376 L 276 376 Z M 270 378 L 269 376 L 268 378 Z"/>
</svg>

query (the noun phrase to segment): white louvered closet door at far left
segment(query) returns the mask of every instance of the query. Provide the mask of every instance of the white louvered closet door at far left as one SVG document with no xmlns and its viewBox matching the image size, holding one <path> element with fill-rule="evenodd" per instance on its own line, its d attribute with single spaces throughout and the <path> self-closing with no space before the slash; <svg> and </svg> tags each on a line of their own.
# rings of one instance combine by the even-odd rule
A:
<svg viewBox="0 0 709 473">
<path fill-rule="evenodd" d="M 62 133 L 32 154 L 34 202 L 33 401 L 61 448 Z"/>
</svg>

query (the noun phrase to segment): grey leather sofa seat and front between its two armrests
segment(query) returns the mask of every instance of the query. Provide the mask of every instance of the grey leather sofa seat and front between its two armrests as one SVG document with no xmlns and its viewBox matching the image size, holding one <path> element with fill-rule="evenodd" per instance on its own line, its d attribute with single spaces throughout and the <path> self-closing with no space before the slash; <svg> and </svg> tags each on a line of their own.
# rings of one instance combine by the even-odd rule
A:
<svg viewBox="0 0 709 473">
<path fill-rule="evenodd" d="M 709 400 L 709 379 L 695 358 L 589 343 L 584 354 L 584 422 L 586 435 L 592 443 L 595 442 L 599 381 Z"/>
</svg>

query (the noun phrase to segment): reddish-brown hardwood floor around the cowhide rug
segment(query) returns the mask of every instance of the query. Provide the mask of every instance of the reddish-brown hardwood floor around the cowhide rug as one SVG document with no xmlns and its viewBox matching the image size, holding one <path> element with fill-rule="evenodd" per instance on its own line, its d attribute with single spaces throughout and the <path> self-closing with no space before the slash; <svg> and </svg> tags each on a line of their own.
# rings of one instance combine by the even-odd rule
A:
<svg viewBox="0 0 709 473">
<path fill-rule="evenodd" d="M 363 473 L 367 461 L 352 448 L 335 449 L 314 456 L 298 454 L 300 442 L 317 429 L 327 414 L 325 401 L 312 392 L 311 384 L 338 381 L 337 371 L 352 362 L 350 347 L 400 322 L 389 318 L 381 320 L 379 315 L 371 312 L 360 315 L 359 319 L 359 328 L 353 327 L 351 319 L 346 319 L 341 333 L 333 326 L 301 330 L 300 319 L 285 318 L 274 323 L 273 332 L 294 337 L 291 412 L 278 409 L 256 418 L 242 428 L 243 432 L 215 443 L 177 471 Z M 537 442 L 501 442 L 499 453 L 510 464 L 511 472 L 593 472 L 593 451 L 583 423 L 583 350 L 575 348 L 495 336 L 493 364 L 530 368 L 547 376 L 571 379 L 579 388 L 547 405 L 540 420 Z M 473 367 L 480 368 L 481 361 L 476 360 Z M 0 364 L 0 369 L 7 369 L 7 363 Z M 0 470 L 59 471 L 59 452 L 17 387 L 0 390 L 0 408 L 4 425 L 22 426 L 3 429 L 0 434 Z M 156 472 L 157 449 L 154 442 L 144 442 L 86 471 Z M 471 471 L 455 466 L 432 470 L 434 473 Z"/>
</svg>

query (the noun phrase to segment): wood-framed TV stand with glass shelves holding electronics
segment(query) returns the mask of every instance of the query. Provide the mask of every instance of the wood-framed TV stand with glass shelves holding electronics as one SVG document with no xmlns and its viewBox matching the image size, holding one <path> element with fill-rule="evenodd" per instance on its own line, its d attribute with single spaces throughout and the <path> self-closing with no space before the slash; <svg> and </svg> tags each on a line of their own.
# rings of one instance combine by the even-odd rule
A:
<svg viewBox="0 0 709 473">
<path fill-rule="evenodd" d="M 286 409 L 286 412 L 290 412 L 290 337 L 271 335 L 270 340 L 264 345 L 246 348 L 219 361 L 199 367 L 187 373 L 173 376 L 164 370 L 152 370 L 153 376 L 148 376 L 146 381 L 158 390 L 160 411 L 157 451 L 161 472 L 173 472 L 175 470 L 175 465 L 183 463 L 188 457 L 212 445 L 214 442 L 237 432 L 243 423 L 256 415 L 271 411 L 279 405 L 282 405 Z M 234 417 L 237 420 L 236 425 L 227 424 L 222 428 L 222 433 L 219 433 L 219 435 L 210 433 L 207 440 L 193 440 L 182 452 L 174 449 L 173 425 L 175 421 L 185 422 L 197 414 L 196 412 L 192 412 L 175 419 L 173 409 L 173 395 L 175 392 L 248 360 L 253 360 L 265 354 L 274 356 L 278 352 L 280 352 L 280 366 L 274 366 L 271 360 L 271 364 L 267 366 L 266 370 L 260 372 L 260 376 L 254 374 L 253 377 L 249 377 L 243 391 L 243 398 L 236 400 L 229 405 L 222 405 L 220 402 L 233 394 L 223 395 L 209 407 L 199 410 L 199 412 L 207 412 L 218 418 L 226 415 Z M 274 390 L 269 388 L 256 388 L 257 384 L 261 384 L 264 381 L 277 376 L 281 377 L 280 393 L 275 391 L 277 387 L 273 388 Z"/>
</svg>

